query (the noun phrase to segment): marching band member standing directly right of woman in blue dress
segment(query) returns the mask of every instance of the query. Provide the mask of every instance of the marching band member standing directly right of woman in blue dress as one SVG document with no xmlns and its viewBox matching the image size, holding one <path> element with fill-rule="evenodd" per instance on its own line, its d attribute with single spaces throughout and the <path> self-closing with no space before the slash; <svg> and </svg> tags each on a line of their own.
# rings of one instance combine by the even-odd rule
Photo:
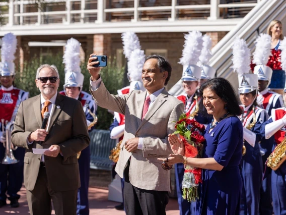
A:
<svg viewBox="0 0 286 215">
<path fill-rule="evenodd" d="M 233 68 L 238 73 L 239 98 L 245 106 L 244 114 L 240 116 L 244 138 L 243 156 L 240 163 L 243 181 L 240 211 L 241 214 L 258 215 L 262 183 L 260 127 L 268 119 L 268 115 L 256 103 L 258 76 L 249 74 L 250 49 L 243 39 L 237 38 L 234 41 Z"/>
</svg>

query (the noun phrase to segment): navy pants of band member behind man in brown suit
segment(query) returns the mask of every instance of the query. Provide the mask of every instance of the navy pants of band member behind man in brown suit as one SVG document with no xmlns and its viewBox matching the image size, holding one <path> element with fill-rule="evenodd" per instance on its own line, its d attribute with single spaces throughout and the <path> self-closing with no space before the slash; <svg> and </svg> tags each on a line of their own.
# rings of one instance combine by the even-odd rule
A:
<svg viewBox="0 0 286 215">
<path fill-rule="evenodd" d="M 81 156 L 78 159 L 81 187 L 78 190 L 78 202 L 77 202 L 77 215 L 89 214 L 89 176 L 90 176 L 90 146 L 82 150 Z"/>
</svg>

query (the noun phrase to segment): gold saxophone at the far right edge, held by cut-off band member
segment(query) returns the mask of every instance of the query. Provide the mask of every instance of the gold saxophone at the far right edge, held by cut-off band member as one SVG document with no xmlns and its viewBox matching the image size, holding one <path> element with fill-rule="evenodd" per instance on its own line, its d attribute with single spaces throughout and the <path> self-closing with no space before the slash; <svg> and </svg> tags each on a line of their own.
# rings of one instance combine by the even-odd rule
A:
<svg viewBox="0 0 286 215">
<path fill-rule="evenodd" d="M 274 148 L 274 151 L 267 158 L 266 165 L 267 167 L 270 167 L 272 170 L 277 170 L 285 160 L 286 160 L 286 133 L 282 142 Z"/>
</svg>

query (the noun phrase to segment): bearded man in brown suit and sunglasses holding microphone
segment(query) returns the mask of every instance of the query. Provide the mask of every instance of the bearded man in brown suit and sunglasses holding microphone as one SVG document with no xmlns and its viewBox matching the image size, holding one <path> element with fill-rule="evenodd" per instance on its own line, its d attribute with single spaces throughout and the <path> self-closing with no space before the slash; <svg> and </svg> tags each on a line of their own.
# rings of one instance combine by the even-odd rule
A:
<svg viewBox="0 0 286 215">
<path fill-rule="evenodd" d="M 37 70 L 41 94 L 20 104 L 12 142 L 26 148 L 24 185 L 32 215 L 50 215 L 51 200 L 57 215 L 74 215 L 80 187 L 77 153 L 89 145 L 86 117 L 80 101 L 57 93 L 59 75 L 55 66 Z M 50 117 L 41 129 L 43 113 Z M 34 154 L 33 148 L 49 149 Z"/>
</svg>

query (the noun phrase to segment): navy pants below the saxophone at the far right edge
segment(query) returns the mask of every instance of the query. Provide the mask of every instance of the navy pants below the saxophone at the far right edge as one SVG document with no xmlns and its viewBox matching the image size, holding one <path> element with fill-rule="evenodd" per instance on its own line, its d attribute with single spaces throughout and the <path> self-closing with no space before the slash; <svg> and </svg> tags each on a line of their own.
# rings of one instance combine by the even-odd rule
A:
<svg viewBox="0 0 286 215">
<path fill-rule="evenodd" d="M 274 214 L 286 215 L 286 162 L 271 173 Z"/>
</svg>

